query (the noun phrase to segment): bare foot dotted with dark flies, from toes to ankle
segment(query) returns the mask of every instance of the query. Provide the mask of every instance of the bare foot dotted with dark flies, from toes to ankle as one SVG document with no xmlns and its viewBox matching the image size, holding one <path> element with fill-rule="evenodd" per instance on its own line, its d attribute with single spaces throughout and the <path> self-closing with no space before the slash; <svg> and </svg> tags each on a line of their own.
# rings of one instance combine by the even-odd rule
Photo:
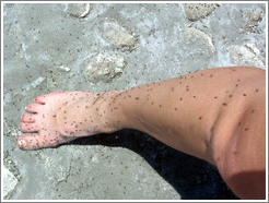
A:
<svg viewBox="0 0 269 203">
<path fill-rule="evenodd" d="M 67 92 L 38 96 L 21 118 L 21 129 L 26 134 L 17 139 L 19 146 L 23 150 L 55 147 L 80 136 L 109 131 L 102 127 L 102 115 L 97 112 L 104 112 L 98 109 L 100 101 L 96 103 L 100 95 Z"/>
</svg>

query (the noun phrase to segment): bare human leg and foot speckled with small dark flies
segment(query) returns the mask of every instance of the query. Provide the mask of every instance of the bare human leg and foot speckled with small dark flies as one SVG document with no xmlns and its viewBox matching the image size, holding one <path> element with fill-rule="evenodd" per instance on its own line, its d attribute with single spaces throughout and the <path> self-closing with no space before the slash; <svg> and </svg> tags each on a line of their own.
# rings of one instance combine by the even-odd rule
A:
<svg viewBox="0 0 269 203">
<path fill-rule="evenodd" d="M 241 199 L 266 199 L 266 71 L 197 71 L 129 91 L 51 93 L 26 107 L 22 150 L 129 128 L 217 166 Z"/>
</svg>

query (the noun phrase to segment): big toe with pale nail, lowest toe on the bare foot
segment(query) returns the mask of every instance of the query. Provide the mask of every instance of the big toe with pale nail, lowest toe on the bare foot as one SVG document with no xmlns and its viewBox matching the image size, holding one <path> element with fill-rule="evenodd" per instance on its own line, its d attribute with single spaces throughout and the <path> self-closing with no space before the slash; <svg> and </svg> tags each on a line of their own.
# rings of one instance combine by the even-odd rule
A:
<svg viewBox="0 0 269 203">
<path fill-rule="evenodd" d="M 38 150 L 44 147 L 55 147 L 59 144 L 57 140 L 49 139 L 39 134 L 23 134 L 17 139 L 17 145 L 21 150 Z"/>
</svg>

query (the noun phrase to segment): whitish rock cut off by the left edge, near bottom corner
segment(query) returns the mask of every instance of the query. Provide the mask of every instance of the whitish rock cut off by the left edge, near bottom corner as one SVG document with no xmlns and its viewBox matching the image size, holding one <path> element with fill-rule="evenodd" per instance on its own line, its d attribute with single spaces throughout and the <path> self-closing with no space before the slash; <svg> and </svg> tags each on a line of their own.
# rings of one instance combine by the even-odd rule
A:
<svg viewBox="0 0 269 203">
<path fill-rule="evenodd" d="M 17 179 L 14 177 L 14 175 L 5 168 L 5 166 L 2 166 L 2 176 L 3 176 L 3 196 L 7 196 L 9 192 L 11 192 L 15 186 L 17 184 Z"/>
</svg>

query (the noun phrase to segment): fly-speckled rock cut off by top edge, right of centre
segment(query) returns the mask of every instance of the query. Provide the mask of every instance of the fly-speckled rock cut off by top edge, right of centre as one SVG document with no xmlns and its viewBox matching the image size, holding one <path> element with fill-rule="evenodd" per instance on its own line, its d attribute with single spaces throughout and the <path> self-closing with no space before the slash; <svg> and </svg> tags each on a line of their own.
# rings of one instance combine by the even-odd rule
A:
<svg viewBox="0 0 269 203">
<path fill-rule="evenodd" d="M 184 10 L 189 21 L 198 21 L 210 15 L 220 3 L 184 3 Z"/>
</svg>

